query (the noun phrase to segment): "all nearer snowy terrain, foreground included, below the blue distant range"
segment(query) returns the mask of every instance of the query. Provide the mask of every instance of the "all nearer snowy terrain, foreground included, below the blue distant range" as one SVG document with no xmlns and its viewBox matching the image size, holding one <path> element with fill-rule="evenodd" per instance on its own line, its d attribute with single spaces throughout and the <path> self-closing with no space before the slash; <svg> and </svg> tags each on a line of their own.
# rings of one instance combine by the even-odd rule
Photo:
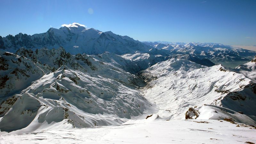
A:
<svg viewBox="0 0 256 144">
<path fill-rule="evenodd" d="M 0 52 L 1 142 L 255 142 L 253 60 L 206 67 L 157 51 Z"/>
</svg>

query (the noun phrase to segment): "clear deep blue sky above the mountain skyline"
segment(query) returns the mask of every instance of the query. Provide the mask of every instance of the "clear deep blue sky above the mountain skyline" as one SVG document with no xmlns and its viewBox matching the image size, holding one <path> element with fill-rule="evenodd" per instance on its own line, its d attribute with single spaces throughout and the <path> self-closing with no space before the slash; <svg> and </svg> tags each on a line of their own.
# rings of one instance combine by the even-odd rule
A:
<svg viewBox="0 0 256 144">
<path fill-rule="evenodd" d="M 77 22 L 140 41 L 256 45 L 256 0 L 0 0 L 0 36 Z"/>
</svg>

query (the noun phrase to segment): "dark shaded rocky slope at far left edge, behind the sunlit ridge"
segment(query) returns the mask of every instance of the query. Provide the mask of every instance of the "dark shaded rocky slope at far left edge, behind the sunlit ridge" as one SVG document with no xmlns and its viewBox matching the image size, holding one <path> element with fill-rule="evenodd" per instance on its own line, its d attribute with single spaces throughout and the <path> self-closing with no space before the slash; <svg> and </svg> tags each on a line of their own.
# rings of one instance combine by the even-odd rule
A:
<svg viewBox="0 0 256 144">
<path fill-rule="evenodd" d="M 43 75 L 42 68 L 26 57 L 0 51 L 0 103 Z"/>
</svg>

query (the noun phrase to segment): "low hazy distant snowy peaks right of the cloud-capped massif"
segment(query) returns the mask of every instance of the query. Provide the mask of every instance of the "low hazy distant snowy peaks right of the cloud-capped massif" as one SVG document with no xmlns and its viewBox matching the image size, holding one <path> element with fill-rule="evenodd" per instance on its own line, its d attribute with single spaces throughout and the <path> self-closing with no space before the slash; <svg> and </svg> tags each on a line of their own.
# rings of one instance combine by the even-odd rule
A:
<svg viewBox="0 0 256 144">
<path fill-rule="evenodd" d="M 228 45 L 215 43 L 157 43 L 143 42 L 157 49 L 165 50 L 169 55 L 189 54 L 199 59 L 208 59 L 213 63 L 221 63 L 228 67 L 236 67 L 251 60 L 256 52 L 245 49 L 235 49 Z"/>
</svg>

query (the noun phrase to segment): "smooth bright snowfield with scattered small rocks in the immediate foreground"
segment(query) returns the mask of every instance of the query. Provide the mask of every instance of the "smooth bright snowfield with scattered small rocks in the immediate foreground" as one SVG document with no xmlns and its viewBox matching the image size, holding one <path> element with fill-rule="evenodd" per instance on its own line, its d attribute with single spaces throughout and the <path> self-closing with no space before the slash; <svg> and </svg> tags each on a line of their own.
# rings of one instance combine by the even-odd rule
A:
<svg viewBox="0 0 256 144">
<path fill-rule="evenodd" d="M 239 127 L 237 126 L 239 125 Z M 150 120 L 0 136 L 0 143 L 245 143 L 256 142 L 256 129 L 218 120 Z"/>
</svg>

